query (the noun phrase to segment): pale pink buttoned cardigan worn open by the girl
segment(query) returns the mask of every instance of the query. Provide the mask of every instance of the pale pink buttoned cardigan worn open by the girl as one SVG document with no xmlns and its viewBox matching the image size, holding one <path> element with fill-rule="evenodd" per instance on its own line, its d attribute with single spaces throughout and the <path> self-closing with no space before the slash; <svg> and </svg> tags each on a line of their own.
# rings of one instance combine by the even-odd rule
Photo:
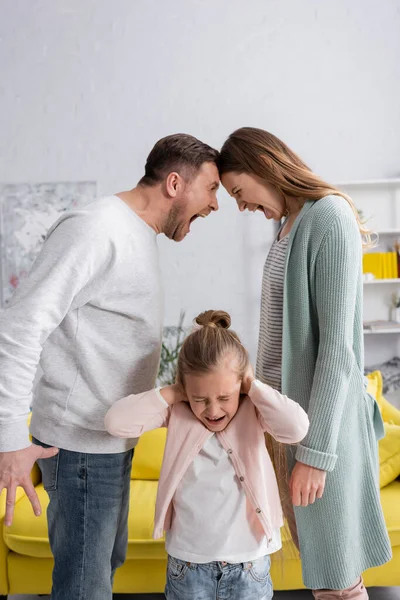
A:
<svg viewBox="0 0 400 600">
<path fill-rule="evenodd" d="M 248 396 L 226 429 L 217 437 L 229 454 L 251 509 L 251 527 L 257 539 L 268 539 L 282 527 L 282 507 L 264 432 L 285 444 L 296 444 L 306 435 L 308 417 L 299 404 L 270 386 L 253 381 Z M 109 433 L 135 438 L 157 427 L 168 427 L 158 484 L 153 537 L 161 538 L 171 527 L 175 491 L 205 442 L 212 436 L 186 402 L 167 407 L 155 390 L 118 400 L 108 411 Z"/>
</svg>

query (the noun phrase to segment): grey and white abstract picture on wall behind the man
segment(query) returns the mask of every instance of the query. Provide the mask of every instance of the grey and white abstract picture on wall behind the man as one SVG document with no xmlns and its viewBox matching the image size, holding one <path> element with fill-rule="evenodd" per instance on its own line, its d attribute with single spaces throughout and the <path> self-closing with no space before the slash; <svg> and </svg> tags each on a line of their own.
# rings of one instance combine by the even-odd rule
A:
<svg viewBox="0 0 400 600">
<path fill-rule="evenodd" d="M 9 303 L 64 211 L 88 204 L 94 181 L 0 184 L 0 306 Z"/>
</svg>

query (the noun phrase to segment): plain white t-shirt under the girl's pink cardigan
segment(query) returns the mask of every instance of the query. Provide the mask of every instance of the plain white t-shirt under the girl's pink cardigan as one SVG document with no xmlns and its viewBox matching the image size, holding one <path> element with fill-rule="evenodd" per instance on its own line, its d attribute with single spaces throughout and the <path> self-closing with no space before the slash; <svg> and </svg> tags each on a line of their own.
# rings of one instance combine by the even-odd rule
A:
<svg viewBox="0 0 400 600">
<path fill-rule="evenodd" d="M 268 543 L 254 536 L 246 494 L 226 450 L 214 434 L 183 476 L 173 498 L 168 554 L 196 563 L 256 560 L 282 547 L 280 530 Z"/>
</svg>

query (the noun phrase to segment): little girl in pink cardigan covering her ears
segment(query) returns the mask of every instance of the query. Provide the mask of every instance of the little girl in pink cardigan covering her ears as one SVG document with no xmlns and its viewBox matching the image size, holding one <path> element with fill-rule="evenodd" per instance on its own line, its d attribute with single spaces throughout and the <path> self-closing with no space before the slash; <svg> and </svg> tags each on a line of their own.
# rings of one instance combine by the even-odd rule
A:
<svg viewBox="0 0 400 600">
<path fill-rule="evenodd" d="M 283 519 L 264 432 L 298 443 L 308 418 L 254 379 L 227 313 L 209 310 L 196 322 L 177 383 L 119 400 L 106 428 L 131 438 L 168 427 L 153 533 L 166 531 L 166 598 L 269 600 Z"/>
</svg>

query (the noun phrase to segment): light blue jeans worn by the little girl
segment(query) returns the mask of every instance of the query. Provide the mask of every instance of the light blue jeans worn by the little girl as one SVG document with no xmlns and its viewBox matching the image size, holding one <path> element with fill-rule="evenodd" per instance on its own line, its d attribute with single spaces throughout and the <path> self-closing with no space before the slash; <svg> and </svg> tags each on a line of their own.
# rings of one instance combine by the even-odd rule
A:
<svg viewBox="0 0 400 600">
<path fill-rule="evenodd" d="M 167 600 L 270 600 L 271 560 L 197 564 L 168 557 Z"/>
</svg>

